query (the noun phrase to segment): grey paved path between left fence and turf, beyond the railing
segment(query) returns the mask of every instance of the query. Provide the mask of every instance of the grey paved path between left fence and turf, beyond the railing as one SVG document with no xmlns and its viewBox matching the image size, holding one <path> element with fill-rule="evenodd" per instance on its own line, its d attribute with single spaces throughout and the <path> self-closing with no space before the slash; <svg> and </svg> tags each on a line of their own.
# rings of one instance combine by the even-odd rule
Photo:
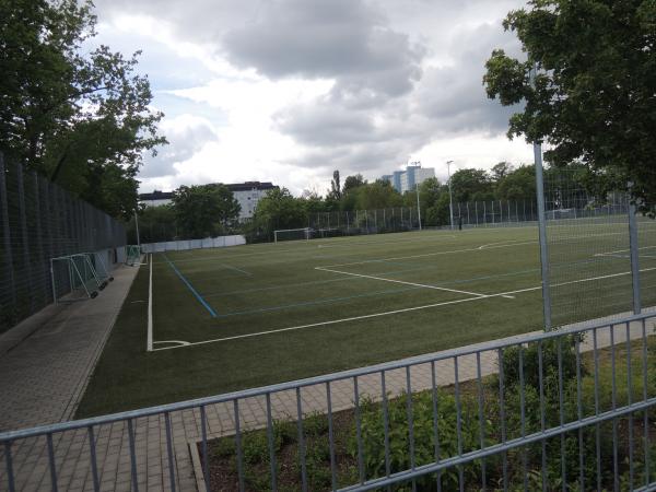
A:
<svg viewBox="0 0 656 492">
<path fill-rule="evenodd" d="M 0 431 L 70 420 L 138 268 L 98 297 L 50 305 L 0 337 Z"/>
</svg>

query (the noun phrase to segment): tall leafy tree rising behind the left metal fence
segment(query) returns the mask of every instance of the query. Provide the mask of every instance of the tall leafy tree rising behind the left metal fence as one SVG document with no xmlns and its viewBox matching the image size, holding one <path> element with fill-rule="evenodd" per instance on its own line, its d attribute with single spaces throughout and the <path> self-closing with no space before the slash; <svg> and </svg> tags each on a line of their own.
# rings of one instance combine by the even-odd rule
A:
<svg viewBox="0 0 656 492">
<path fill-rule="evenodd" d="M 128 216 L 143 154 L 166 143 L 157 134 L 163 115 L 150 108 L 148 78 L 136 73 L 139 54 L 83 49 L 95 36 L 92 9 L 91 1 L 0 0 L 0 151 Z"/>
</svg>

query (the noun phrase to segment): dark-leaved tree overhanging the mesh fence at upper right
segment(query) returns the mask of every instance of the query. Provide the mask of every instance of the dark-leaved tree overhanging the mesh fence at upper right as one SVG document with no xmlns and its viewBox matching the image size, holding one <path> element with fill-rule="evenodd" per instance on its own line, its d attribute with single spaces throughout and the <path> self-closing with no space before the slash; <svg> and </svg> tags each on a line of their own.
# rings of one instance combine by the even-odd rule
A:
<svg viewBox="0 0 656 492">
<path fill-rule="evenodd" d="M 548 162 L 579 161 L 634 198 L 656 202 L 656 2 L 534 0 L 508 13 L 526 61 L 492 52 L 483 84 L 524 102 L 508 137 L 548 142 Z M 535 89 L 529 70 L 537 67 Z"/>
</svg>

